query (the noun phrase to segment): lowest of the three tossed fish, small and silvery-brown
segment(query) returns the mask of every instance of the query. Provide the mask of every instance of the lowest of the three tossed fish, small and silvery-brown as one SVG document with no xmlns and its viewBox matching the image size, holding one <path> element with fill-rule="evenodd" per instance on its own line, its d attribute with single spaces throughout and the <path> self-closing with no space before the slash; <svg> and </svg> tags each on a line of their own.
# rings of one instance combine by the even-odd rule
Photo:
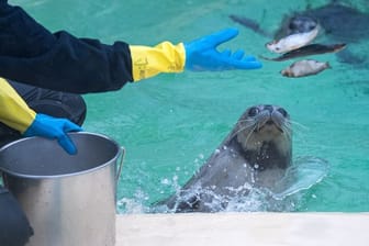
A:
<svg viewBox="0 0 369 246">
<path fill-rule="evenodd" d="M 331 68 L 329 63 L 321 63 L 314 59 L 303 59 L 293 63 L 286 69 L 281 70 L 280 74 L 289 78 L 299 78 L 316 75 L 327 68 Z"/>
</svg>

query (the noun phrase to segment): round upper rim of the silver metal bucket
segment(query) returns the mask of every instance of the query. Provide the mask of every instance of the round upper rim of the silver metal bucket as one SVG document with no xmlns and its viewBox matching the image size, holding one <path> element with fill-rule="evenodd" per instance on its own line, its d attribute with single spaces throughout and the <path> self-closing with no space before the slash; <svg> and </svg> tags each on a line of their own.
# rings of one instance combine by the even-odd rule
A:
<svg viewBox="0 0 369 246">
<path fill-rule="evenodd" d="M 116 154 L 114 155 L 114 157 L 112 157 L 112 159 L 118 159 L 119 156 L 121 155 L 122 153 L 122 147 L 118 144 L 116 141 L 112 139 L 111 137 L 107 136 L 107 135 L 103 135 L 103 134 L 100 134 L 100 133 L 92 133 L 92 132 L 70 132 L 70 133 L 67 133 L 68 135 L 91 135 L 91 136 L 98 136 L 98 137 L 101 137 L 101 138 L 104 138 L 107 141 L 110 141 L 113 143 L 113 145 L 116 146 Z M 30 139 L 33 139 L 33 138 L 43 138 L 43 139 L 48 139 L 48 141 L 57 141 L 57 139 L 49 139 L 49 138 L 45 138 L 45 137 L 41 137 L 41 136 L 31 136 L 31 137 L 22 137 L 20 139 L 16 139 L 16 141 L 13 141 L 9 144 L 5 144 L 4 146 L 2 146 L 0 148 L 0 155 L 1 155 L 1 152 L 5 150 L 7 148 L 10 148 L 11 146 L 13 145 L 16 145 L 21 142 L 24 142 L 24 141 L 30 141 Z M 12 170 L 9 170 L 8 168 L 4 168 L 0 165 L 0 172 L 3 172 L 2 175 L 11 175 L 11 176 L 14 176 L 14 177 L 18 177 L 18 178 L 26 178 L 26 179 L 56 179 L 56 178 L 68 178 L 68 177 L 75 177 L 75 176 L 80 176 L 80 175 L 85 175 L 85 174 L 89 174 L 89 172 L 92 172 L 94 170 L 99 170 L 99 169 L 102 169 L 104 167 L 107 167 L 108 165 L 110 165 L 111 161 L 105 161 L 97 167 L 93 167 L 93 168 L 89 168 L 87 170 L 81 170 L 81 171 L 75 171 L 75 172 L 71 172 L 71 174 L 63 174 L 63 175 L 25 175 L 25 174 L 20 174 L 20 172 L 16 172 L 16 171 L 12 171 Z M 1 174 L 0 174 L 1 175 Z M 1 177 L 1 176 L 0 176 Z"/>
</svg>

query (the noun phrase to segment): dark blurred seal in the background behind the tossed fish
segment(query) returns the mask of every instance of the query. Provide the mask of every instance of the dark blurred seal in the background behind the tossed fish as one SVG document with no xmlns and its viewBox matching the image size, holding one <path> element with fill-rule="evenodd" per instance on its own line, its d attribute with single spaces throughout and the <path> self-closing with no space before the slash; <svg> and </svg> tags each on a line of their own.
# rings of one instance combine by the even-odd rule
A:
<svg viewBox="0 0 369 246">
<path fill-rule="evenodd" d="M 249 18 L 235 14 L 231 14 L 230 18 L 262 36 L 277 41 L 292 34 L 310 33 L 316 25 L 320 25 L 324 33 L 322 37 L 337 44 L 355 44 L 369 37 L 369 30 L 366 27 L 369 25 L 369 14 L 336 0 L 318 8 L 308 5 L 303 11 L 286 14 L 276 31 L 264 30 L 257 21 Z M 322 47 L 323 51 L 332 51 L 332 47 L 313 45 L 309 47 L 309 52 L 323 54 Z M 333 51 L 340 49 L 334 48 Z M 337 53 L 338 62 L 360 65 L 367 60 L 367 57 L 364 57 L 361 53 L 357 54 L 354 51 L 351 47 Z M 304 52 L 305 49 L 303 49 Z M 294 53 L 293 55 L 300 56 L 300 54 Z"/>
</svg>

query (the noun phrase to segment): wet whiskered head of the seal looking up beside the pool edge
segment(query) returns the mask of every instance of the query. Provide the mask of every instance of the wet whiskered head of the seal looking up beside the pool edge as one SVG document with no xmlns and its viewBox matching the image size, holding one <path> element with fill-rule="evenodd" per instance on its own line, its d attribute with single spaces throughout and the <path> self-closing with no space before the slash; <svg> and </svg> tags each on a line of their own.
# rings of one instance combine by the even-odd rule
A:
<svg viewBox="0 0 369 246">
<path fill-rule="evenodd" d="M 292 132 L 290 116 L 283 108 L 262 104 L 247 109 L 234 134 L 245 158 L 255 169 L 290 166 Z"/>
</svg>

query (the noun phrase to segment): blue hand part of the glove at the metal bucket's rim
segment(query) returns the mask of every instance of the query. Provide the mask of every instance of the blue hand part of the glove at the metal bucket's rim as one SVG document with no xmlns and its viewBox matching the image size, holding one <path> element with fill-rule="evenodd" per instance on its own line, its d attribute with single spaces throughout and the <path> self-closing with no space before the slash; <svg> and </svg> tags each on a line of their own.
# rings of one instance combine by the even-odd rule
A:
<svg viewBox="0 0 369 246">
<path fill-rule="evenodd" d="M 79 132 L 81 127 L 67 119 L 52 118 L 46 114 L 37 113 L 35 120 L 23 133 L 24 136 L 42 136 L 46 138 L 56 138 L 59 145 L 70 155 L 77 153 L 75 144 L 68 136 L 68 132 Z"/>
</svg>

